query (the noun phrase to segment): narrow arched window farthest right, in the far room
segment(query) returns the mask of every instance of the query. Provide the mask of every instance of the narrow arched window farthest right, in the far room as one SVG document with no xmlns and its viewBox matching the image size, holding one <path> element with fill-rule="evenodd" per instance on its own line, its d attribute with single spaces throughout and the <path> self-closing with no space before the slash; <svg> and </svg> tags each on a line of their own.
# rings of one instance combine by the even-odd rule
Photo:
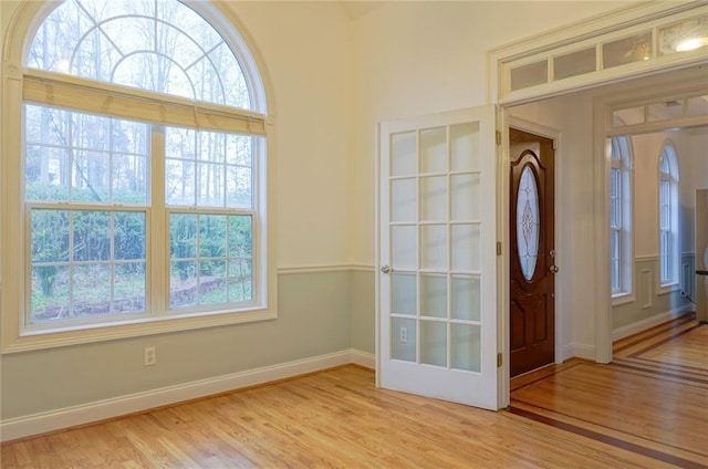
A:
<svg viewBox="0 0 708 469">
<path fill-rule="evenodd" d="M 674 145 L 666 143 L 659 156 L 659 281 L 662 288 L 678 284 L 678 161 Z"/>
</svg>

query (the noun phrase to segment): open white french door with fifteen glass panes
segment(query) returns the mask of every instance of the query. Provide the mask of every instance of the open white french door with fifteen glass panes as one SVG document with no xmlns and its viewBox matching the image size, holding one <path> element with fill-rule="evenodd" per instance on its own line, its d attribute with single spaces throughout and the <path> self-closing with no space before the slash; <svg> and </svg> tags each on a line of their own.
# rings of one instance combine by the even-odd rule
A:
<svg viewBox="0 0 708 469">
<path fill-rule="evenodd" d="M 493 106 L 379 126 L 379 386 L 499 408 Z"/>
</svg>

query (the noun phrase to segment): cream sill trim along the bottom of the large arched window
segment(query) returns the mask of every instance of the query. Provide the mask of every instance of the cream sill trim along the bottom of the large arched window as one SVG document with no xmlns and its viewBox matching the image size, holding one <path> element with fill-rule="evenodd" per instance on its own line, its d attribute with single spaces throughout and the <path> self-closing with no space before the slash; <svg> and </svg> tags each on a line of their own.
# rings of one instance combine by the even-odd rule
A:
<svg viewBox="0 0 708 469">
<path fill-rule="evenodd" d="M 87 344 L 139 337 L 170 332 L 195 331 L 231 324 L 268 321 L 278 317 L 270 309 L 254 309 L 231 313 L 201 313 L 164 319 L 142 317 L 131 321 L 84 324 L 56 330 L 23 331 L 19 336 L 3 341 L 2 353 L 29 352 L 43 348 Z"/>
</svg>

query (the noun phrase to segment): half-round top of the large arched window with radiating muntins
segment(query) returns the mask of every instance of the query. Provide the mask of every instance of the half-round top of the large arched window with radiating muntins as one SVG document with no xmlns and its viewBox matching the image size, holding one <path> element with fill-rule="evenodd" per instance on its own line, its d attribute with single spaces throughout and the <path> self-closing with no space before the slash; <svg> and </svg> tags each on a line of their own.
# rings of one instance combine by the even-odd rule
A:
<svg viewBox="0 0 708 469">
<path fill-rule="evenodd" d="M 252 110 L 236 45 L 177 0 L 67 0 L 37 29 L 25 66 Z"/>
</svg>

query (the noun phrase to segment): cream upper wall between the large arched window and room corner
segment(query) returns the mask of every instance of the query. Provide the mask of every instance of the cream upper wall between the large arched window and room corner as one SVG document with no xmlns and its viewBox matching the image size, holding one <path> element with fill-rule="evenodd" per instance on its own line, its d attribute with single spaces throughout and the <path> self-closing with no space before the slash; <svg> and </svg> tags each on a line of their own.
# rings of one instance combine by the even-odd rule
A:
<svg viewBox="0 0 708 469">
<path fill-rule="evenodd" d="M 278 263 L 346 263 L 348 18 L 336 2 L 227 4 L 253 38 L 274 90 Z"/>
</svg>

